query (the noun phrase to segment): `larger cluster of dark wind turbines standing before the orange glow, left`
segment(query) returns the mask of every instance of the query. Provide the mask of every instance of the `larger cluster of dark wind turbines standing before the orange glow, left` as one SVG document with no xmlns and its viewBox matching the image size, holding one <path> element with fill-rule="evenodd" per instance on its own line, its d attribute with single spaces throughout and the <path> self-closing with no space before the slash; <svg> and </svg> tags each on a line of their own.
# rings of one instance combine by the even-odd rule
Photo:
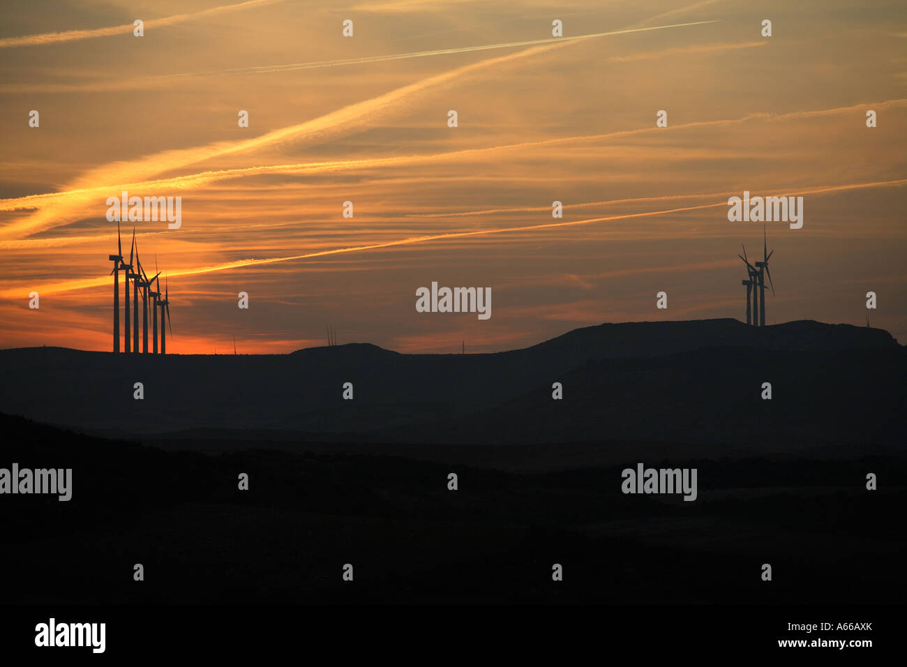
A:
<svg viewBox="0 0 907 667">
<path fill-rule="evenodd" d="M 125 336 L 123 337 L 123 351 L 126 353 L 139 352 L 139 293 L 141 291 L 141 353 L 148 354 L 148 308 L 151 305 L 151 354 L 158 353 L 158 315 L 157 309 L 161 309 L 161 354 L 167 354 L 167 334 L 164 330 L 164 315 L 166 313 L 167 324 L 170 326 L 170 299 L 167 280 L 164 279 L 164 292 L 161 295 L 161 271 L 158 271 L 154 278 L 149 280 L 148 274 L 141 267 L 139 260 L 139 249 L 135 243 L 135 228 L 132 229 L 132 248 L 129 250 L 129 263 L 123 260 L 122 240 L 120 238 L 120 223 L 116 226 L 116 255 L 110 255 L 109 260 L 113 262 L 113 352 L 120 351 L 120 271 L 126 281 L 126 299 L 124 299 L 125 317 Z M 133 252 L 135 263 L 132 263 Z M 155 270 L 157 269 L 157 258 L 154 260 Z M 132 282 L 132 331 L 130 330 L 130 282 Z M 151 289 L 154 285 L 155 289 Z M 161 297 L 163 297 L 161 299 Z M 173 328 L 171 337 L 173 336 Z M 132 335 L 131 335 L 132 334 Z"/>
</svg>

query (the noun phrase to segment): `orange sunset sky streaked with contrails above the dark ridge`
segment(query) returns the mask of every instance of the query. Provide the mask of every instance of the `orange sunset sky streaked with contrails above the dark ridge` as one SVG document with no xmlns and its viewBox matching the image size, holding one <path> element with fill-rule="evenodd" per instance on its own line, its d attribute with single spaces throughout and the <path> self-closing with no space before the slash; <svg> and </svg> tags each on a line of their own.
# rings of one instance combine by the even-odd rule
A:
<svg viewBox="0 0 907 667">
<path fill-rule="evenodd" d="M 327 323 L 341 344 L 447 353 L 601 322 L 744 319 L 736 255 L 761 255 L 763 227 L 727 220 L 743 191 L 805 200 L 802 229 L 767 225 L 769 323 L 863 326 L 873 290 L 873 326 L 903 343 L 907 15 L 853 5 L 5 8 L 0 348 L 112 348 L 106 200 L 124 190 L 182 198 L 179 230 L 136 223 L 145 269 L 156 257 L 168 275 L 168 352 L 232 352 L 233 336 L 240 353 L 289 352 L 324 345 Z M 551 39 L 554 19 L 561 41 L 472 48 Z M 697 22 L 712 23 L 683 25 Z M 600 33 L 618 34 L 567 39 Z M 433 281 L 490 287 L 491 319 L 416 312 Z"/>
</svg>

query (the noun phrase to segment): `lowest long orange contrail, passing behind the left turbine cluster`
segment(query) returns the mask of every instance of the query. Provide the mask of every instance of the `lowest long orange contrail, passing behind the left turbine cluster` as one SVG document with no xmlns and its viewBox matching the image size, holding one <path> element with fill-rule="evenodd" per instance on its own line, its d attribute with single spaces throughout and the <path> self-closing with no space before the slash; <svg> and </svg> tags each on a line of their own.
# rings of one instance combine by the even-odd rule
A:
<svg viewBox="0 0 907 667">
<path fill-rule="evenodd" d="M 863 188 L 876 188 L 876 187 L 886 187 L 886 186 L 897 186 L 907 184 L 907 179 L 899 179 L 895 181 L 874 181 L 866 183 L 852 183 L 848 185 L 828 185 L 820 186 L 815 188 L 806 188 L 799 191 L 789 191 L 785 193 L 779 193 L 777 196 L 793 196 L 801 194 L 814 194 L 819 192 L 834 192 L 834 191 L 845 191 L 845 190 L 859 190 Z M 702 211 L 704 209 L 714 209 L 719 206 L 727 206 L 727 201 L 717 201 L 715 203 L 708 204 L 698 204 L 697 206 L 682 206 L 673 209 L 662 209 L 659 211 L 640 211 L 638 213 L 621 213 L 619 215 L 610 215 L 602 218 L 587 218 L 586 220 L 578 221 L 561 221 L 561 222 L 542 222 L 537 225 L 526 225 L 522 227 L 498 227 L 491 230 L 471 230 L 471 231 L 449 231 L 440 234 L 424 234 L 423 236 L 411 236 L 405 239 L 397 240 L 388 240 L 381 243 L 371 243 L 367 245 L 360 246 L 348 246 L 346 248 L 332 248 L 329 250 L 317 250 L 316 252 L 307 252 L 302 255 L 291 255 L 288 257 L 269 257 L 263 259 L 246 259 L 246 260 L 233 260 L 229 262 L 224 262 L 221 264 L 214 264 L 211 266 L 205 267 L 196 267 L 193 269 L 183 269 L 183 270 L 171 270 L 169 275 L 171 277 L 177 276 L 191 276 L 198 275 L 200 273 L 213 273 L 215 271 L 224 271 L 230 269 L 241 269 L 243 267 L 249 266 L 258 266 L 261 264 L 276 264 L 282 261 L 297 261 L 297 260 L 309 260 L 315 257 L 327 257 L 329 255 L 340 255 L 348 252 L 360 252 L 364 250 L 380 250 L 383 248 L 394 248 L 395 246 L 405 246 L 412 245 L 414 243 L 425 243 L 433 240 L 449 240 L 449 239 L 465 239 L 474 236 L 485 236 L 490 234 L 505 234 L 512 232 L 521 232 L 521 231 L 536 231 L 536 230 L 551 230 L 561 227 L 574 227 L 578 225 L 588 225 L 596 222 L 609 222 L 609 221 L 618 221 L 618 220 L 630 220 L 633 218 L 648 218 L 655 215 L 666 215 L 669 213 L 679 213 L 685 211 Z M 99 286 L 106 286 L 110 282 L 110 279 L 106 276 L 100 278 L 86 278 L 82 280 L 63 280 L 62 282 L 48 283 L 46 285 L 35 288 L 10 288 L 0 290 L 0 299 L 18 299 L 22 298 L 24 294 L 27 294 L 31 289 L 35 289 L 41 294 L 55 294 L 64 291 L 71 291 L 73 289 L 86 289 Z"/>
</svg>

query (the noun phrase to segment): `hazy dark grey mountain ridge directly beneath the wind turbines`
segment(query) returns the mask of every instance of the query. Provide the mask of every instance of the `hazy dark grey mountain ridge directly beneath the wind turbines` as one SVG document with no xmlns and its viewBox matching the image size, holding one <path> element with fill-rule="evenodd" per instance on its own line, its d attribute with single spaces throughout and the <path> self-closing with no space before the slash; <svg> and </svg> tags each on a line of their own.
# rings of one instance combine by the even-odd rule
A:
<svg viewBox="0 0 907 667">
<path fill-rule="evenodd" d="M 903 439 L 905 362 L 881 329 L 735 319 L 602 324 L 469 355 L 368 344 L 164 358 L 19 348 L 0 351 L 0 411 L 112 436 L 886 446 Z M 353 400 L 342 398 L 346 382 Z"/>
</svg>

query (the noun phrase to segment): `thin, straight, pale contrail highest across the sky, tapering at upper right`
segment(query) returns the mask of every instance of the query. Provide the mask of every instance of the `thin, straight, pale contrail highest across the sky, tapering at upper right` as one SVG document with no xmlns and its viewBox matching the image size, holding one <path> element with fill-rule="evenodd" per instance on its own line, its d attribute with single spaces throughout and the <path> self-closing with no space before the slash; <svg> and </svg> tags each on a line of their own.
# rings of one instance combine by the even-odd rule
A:
<svg viewBox="0 0 907 667">
<path fill-rule="evenodd" d="M 545 39 L 528 39 L 523 40 L 522 42 L 505 42 L 502 44 L 481 44 L 478 46 L 459 46 L 452 49 L 435 49 L 434 51 L 415 51 L 408 54 L 389 54 L 389 55 L 368 55 L 362 58 L 346 58 L 343 60 L 326 60 L 318 61 L 314 63 L 291 63 L 291 64 L 268 64 L 260 65 L 258 67 L 239 67 L 235 69 L 227 70 L 211 70 L 209 72 L 187 72 L 183 74 L 162 74 L 161 76 L 156 76 L 153 78 L 157 79 L 171 79 L 171 78 L 181 78 L 189 76 L 232 76 L 235 74 L 264 74 L 271 72 L 291 72 L 293 70 L 308 70 L 314 69 L 317 67 L 337 67 L 340 65 L 347 64 L 364 64 L 364 63 L 384 63 L 389 60 L 405 60 L 407 58 L 424 58 L 429 55 L 445 55 L 445 54 L 468 54 L 473 51 L 488 51 L 490 49 L 506 49 L 513 46 L 536 46 L 539 44 L 554 44 L 562 42 L 573 42 L 579 39 L 592 39 L 594 37 L 607 37 L 612 34 L 629 34 L 629 33 L 645 33 L 651 30 L 665 30 L 667 28 L 683 28 L 690 25 L 706 25 L 718 23 L 718 20 L 713 21 L 697 21 L 695 23 L 688 24 L 672 24 L 672 25 L 654 25 L 648 28 L 627 28 L 624 30 L 612 30 L 608 33 L 590 33 L 590 34 L 577 34 L 572 37 L 548 37 Z"/>
</svg>

